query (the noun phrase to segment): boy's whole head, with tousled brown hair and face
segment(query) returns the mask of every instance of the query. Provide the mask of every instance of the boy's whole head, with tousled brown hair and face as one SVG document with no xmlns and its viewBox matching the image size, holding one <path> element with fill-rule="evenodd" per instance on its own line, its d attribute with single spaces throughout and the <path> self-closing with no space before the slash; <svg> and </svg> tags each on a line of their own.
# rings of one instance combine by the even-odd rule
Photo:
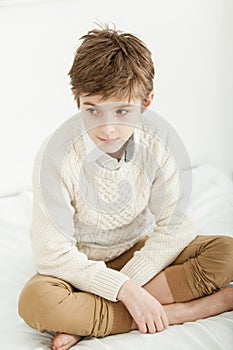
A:
<svg viewBox="0 0 233 350">
<path fill-rule="evenodd" d="M 151 52 L 136 36 L 108 27 L 81 39 L 69 72 L 71 89 L 88 135 L 117 158 L 134 131 L 138 107 L 141 112 L 153 99 Z"/>
</svg>

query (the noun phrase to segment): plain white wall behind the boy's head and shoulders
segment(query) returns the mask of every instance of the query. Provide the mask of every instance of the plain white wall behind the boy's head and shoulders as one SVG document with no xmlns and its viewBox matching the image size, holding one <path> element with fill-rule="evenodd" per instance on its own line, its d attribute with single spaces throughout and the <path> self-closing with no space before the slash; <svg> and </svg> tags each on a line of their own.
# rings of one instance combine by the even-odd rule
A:
<svg viewBox="0 0 233 350">
<path fill-rule="evenodd" d="M 30 186 L 40 143 L 77 112 L 67 74 L 94 21 L 147 43 L 153 109 L 176 128 L 193 165 L 231 176 L 232 15 L 231 0 L 0 0 L 0 192 Z"/>
</svg>

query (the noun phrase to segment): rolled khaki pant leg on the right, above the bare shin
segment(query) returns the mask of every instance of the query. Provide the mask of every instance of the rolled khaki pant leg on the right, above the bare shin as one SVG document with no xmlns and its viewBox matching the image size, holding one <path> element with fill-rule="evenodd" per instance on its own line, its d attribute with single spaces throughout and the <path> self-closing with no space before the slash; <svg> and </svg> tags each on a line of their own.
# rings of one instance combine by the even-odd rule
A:
<svg viewBox="0 0 233 350">
<path fill-rule="evenodd" d="M 233 238 L 198 236 L 164 272 L 176 302 L 212 294 L 233 281 Z"/>
</svg>

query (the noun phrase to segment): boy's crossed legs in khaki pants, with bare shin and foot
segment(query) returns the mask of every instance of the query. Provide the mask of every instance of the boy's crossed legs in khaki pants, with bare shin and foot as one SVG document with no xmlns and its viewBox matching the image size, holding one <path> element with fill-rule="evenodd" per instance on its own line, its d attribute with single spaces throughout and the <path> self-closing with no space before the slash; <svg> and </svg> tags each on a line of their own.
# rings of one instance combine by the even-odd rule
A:
<svg viewBox="0 0 233 350">
<path fill-rule="evenodd" d="M 120 270 L 144 243 L 139 242 L 107 265 Z M 232 238 L 199 236 L 143 288 L 164 305 L 170 325 L 194 321 L 233 309 L 233 289 L 221 289 L 233 280 L 232 266 Z M 76 291 L 65 281 L 38 274 L 21 293 L 19 314 L 40 331 L 74 334 L 58 334 L 53 342 L 56 350 L 69 349 L 81 336 L 137 329 L 121 302 Z"/>
</svg>

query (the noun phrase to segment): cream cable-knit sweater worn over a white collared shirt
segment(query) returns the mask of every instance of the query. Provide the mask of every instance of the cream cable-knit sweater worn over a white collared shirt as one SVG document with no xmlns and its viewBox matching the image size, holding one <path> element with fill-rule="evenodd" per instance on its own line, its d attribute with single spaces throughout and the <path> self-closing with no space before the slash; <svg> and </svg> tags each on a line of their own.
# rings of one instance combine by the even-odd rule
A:
<svg viewBox="0 0 233 350">
<path fill-rule="evenodd" d="M 117 301 L 127 279 L 144 285 L 195 238 L 190 164 L 179 137 L 154 112 L 143 113 L 119 162 L 95 147 L 81 113 L 70 121 L 35 157 L 30 234 L 37 271 Z M 145 235 L 121 271 L 106 267 Z"/>
</svg>

